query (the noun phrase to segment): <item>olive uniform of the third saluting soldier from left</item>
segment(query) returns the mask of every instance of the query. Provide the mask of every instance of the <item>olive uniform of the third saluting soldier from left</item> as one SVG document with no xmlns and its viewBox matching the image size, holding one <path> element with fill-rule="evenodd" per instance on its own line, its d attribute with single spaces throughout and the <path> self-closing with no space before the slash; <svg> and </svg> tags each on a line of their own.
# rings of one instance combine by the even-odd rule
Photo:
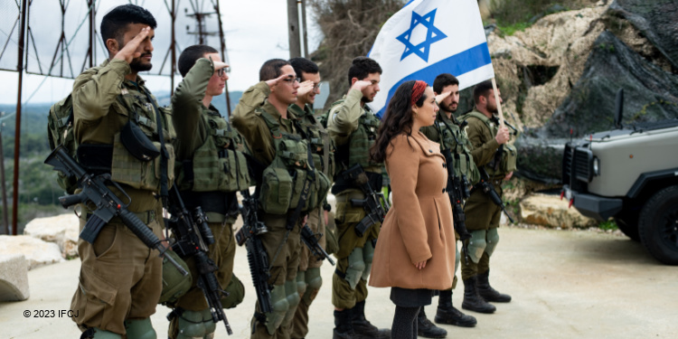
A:
<svg viewBox="0 0 678 339">
<path fill-rule="evenodd" d="M 270 89 L 264 81 L 245 91 L 233 113 L 232 123 L 245 139 L 250 154 L 267 166 L 262 183 L 258 183 L 261 207 L 258 216 L 259 221 L 268 228 L 268 232 L 262 234 L 260 239 L 268 254 L 271 274 L 268 283 L 273 286 L 273 312 L 266 314 L 266 324 L 261 324 L 255 314 L 252 318 L 252 338 L 287 338 L 289 333 L 286 329 L 290 328 L 300 300 L 296 278 L 303 215 L 295 221 L 291 231 L 286 229 L 287 217 L 295 212 L 300 186 L 306 180 L 301 178 L 306 178 L 306 171 L 312 169 L 313 164 L 307 160 L 307 143 L 299 134 L 296 126 L 298 122 L 295 121 L 297 117 L 288 109 L 287 118 L 282 118 L 278 110 L 266 100 L 269 93 Z M 289 180 L 290 173 L 294 173 L 296 178 L 293 187 L 284 188 L 283 183 Z M 314 174 L 315 186 L 321 176 L 325 176 L 317 171 Z M 325 185 L 329 187 L 326 178 Z M 315 187 L 311 191 L 315 192 Z M 317 195 L 309 193 L 306 209 L 312 211 L 317 205 Z M 259 313 L 259 308 L 256 312 Z"/>
</svg>

